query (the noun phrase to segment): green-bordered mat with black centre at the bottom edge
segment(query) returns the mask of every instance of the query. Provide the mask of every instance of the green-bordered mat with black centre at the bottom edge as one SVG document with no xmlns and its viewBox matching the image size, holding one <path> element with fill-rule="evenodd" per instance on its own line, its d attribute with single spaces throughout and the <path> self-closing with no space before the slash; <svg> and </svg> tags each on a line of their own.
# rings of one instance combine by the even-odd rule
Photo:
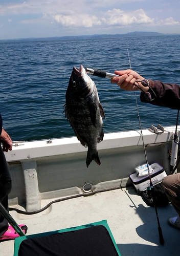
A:
<svg viewBox="0 0 180 256">
<path fill-rule="evenodd" d="M 51 245 L 49 246 L 49 244 L 47 243 L 47 239 L 51 240 L 54 238 L 56 238 L 56 240 L 50 241 L 50 243 L 52 243 L 52 246 Z M 43 241 L 44 239 L 46 239 L 45 242 Z M 56 241 L 57 243 L 54 241 Z M 38 248 L 38 243 L 40 244 L 39 246 L 40 249 Z M 56 231 L 18 237 L 15 239 L 15 243 L 14 243 L 14 256 L 19 256 L 19 255 L 21 256 L 21 255 L 27 255 L 27 254 L 32 256 L 40 255 L 42 252 L 39 252 L 39 251 L 41 250 L 41 247 L 43 247 L 43 244 L 44 244 L 44 248 L 43 248 L 44 252 L 42 255 L 45 255 L 45 254 L 46 255 L 69 255 L 68 252 L 67 254 L 64 253 L 64 251 L 66 251 L 67 249 L 67 250 L 71 250 L 71 253 L 74 252 L 74 254 L 72 255 L 90 255 L 88 254 L 88 252 L 90 253 L 91 251 L 92 253 L 93 250 L 95 250 L 95 252 L 93 252 L 93 254 L 91 255 L 96 255 L 96 252 L 98 253 L 99 251 L 100 254 L 98 255 L 100 256 L 100 255 L 103 255 L 101 254 L 101 251 L 102 253 L 104 253 L 103 251 L 105 250 L 105 254 L 107 255 L 121 256 L 118 246 L 115 242 L 113 234 L 111 233 L 106 220 L 91 223 L 91 224 L 86 224 L 78 227 L 71 227 L 71 228 L 66 228 L 66 229 L 61 229 Z M 37 247 L 37 254 L 35 251 L 36 247 Z M 55 247 L 57 247 L 57 253 L 51 254 L 52 252 L 51 253 L 48 252 L 50 247 L 52 247 L 53 250 Z M 62 254 L 60 253 L 61 250 L 62 250 Z M 113 251 L 113 254 L 110 253 L 111 250 Z"/>
</svg>

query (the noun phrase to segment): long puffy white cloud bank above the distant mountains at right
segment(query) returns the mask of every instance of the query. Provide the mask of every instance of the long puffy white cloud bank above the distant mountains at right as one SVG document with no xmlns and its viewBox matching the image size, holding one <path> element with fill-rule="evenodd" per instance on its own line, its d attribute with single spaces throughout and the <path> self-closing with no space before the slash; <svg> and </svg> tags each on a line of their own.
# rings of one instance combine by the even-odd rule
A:
<svg viewBox="0 0 180 256">
<path fill-rule="evenodd" d="M 90 28 L 93 26 L 114 26 L 125 27 L 133 25 L 146 25 L 146 26 L 170 26 L 178 25 L 172 17 L 166 19 L 150 18 L 146 15 L 143 9 L 133 12 L 125 12 L 120 9 L 108 10 L 102 16 L 95 16 L 89 14 L 56 14 L 53 16 L 55 21 L 63 27 L 85 27 Z"/>
</svg>

